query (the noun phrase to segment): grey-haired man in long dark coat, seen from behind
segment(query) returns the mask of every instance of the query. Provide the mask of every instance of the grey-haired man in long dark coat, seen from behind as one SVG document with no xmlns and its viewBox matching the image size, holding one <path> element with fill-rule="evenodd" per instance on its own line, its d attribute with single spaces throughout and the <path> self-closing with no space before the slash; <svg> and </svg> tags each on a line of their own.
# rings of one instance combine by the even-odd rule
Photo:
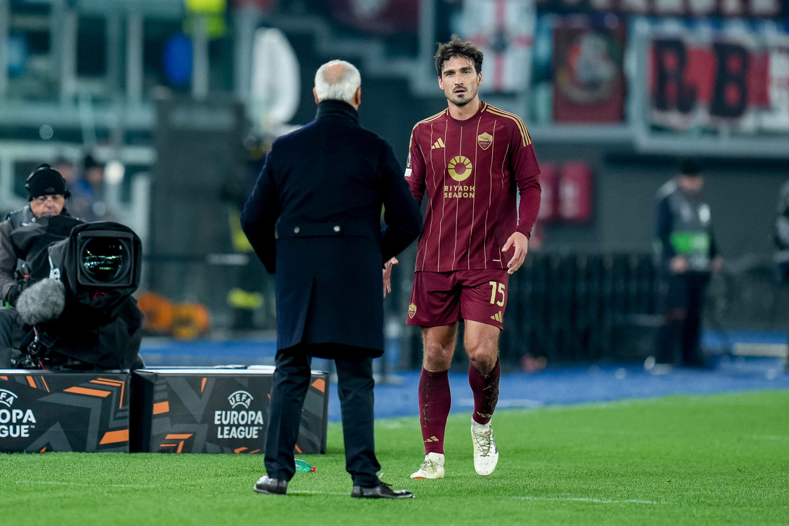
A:
<svg viewBox="0 0 789 526">
<path fill-rule="evenodd" d="M 309 383 L 318 356 L 337 367 L 351 496 L 412 498 L 376 475 L 372 359 L 383 354 L 380 294 L 394 256 L 419 235 L 421 215 L 389 144 L 359 125 L 358 70 L 327 62 L 313 93 L 315 120 L 275 140 L 241 214 L 249 242 L 275 274 L 277 301 L 267 475 L 255 491 L 286 494 L 305 394 L 325 389 Z"/>
</svg>

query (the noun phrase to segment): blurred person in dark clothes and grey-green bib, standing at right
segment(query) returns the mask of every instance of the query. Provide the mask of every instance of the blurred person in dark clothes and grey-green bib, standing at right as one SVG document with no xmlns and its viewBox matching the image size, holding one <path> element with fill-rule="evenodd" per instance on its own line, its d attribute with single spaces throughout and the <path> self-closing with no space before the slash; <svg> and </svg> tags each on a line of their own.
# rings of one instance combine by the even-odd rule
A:
<svg viewBox="0 0 789 526">
<path fill-rule="evenodd" d="M 704 177 L 694 159 L 657 193 L 657 237 L 666 282 L 664 323 L 657 336 L 657 362 L 699 367 L 701 308 L 711 270 L 720 269 L 709 204 L 701 194 Z M 682 350 L 675 359 L 675 345 Z M 658 369 L 659 371 L 661 369 Z"/>
</svg>

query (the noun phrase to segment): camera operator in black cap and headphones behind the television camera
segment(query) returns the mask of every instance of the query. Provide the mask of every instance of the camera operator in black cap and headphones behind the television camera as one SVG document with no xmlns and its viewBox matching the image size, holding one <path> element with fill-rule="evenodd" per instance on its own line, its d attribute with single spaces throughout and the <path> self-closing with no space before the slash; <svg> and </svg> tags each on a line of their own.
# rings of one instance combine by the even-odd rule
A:
<svg viewBox="0 0 789 526">
<path fill-rule="evenodd" d="M 11 212 L 0 222 L 0 367 L 11 367 L 11 338 L 17 323 L 17 314 L 8 305 L 15 305 L 24 288 L 17 278 L 17 269 L 24 263 L 24 253 L 13 243 L 11 233 L 37 218 L 50 215 L 66 215 L 65 199 L 69 191 L 63 176 L 48 164 L 42 164 L 28 176 L 24 188 L 28 191 L 28 206 Z"/>
</svg>

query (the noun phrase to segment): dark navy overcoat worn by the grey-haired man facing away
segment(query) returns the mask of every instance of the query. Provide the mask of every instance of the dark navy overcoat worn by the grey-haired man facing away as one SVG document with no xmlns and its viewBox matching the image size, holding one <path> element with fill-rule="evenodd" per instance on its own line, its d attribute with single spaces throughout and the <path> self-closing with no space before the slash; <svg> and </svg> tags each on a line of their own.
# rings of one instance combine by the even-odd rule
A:
<svg viewBox="0 0 789 526">
<path fill-rule="evenodd" d="M 277 348 L 319 344 L 315 356 L 352 357 L 320 345 L 342 344 L 381 356 L 383 262 L 421 222 L 391 147 L 350 104 L 323 101 L 314 121 L 276 140 L 241 226 L 275 274 Z"/>
</svg>

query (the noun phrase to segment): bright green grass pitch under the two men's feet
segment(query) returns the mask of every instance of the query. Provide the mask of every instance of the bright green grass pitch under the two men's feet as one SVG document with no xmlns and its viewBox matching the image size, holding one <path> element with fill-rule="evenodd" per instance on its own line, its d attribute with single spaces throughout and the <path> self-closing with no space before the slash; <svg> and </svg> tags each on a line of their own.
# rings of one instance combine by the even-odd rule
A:
<svg viewBox="0 0 789 526">
<path fill-rule="evenodd" d="M 252 491 L 257 455 L 0 455 L 0 524 L 789 524 L 787 391 L 499 411 L 486 478 L 469 419 L 450 418 L 443 480 L 408 478 L 416 417 L 376 424 L 408 501 L 350 498 L 337 424 L 287 497 Z"/>
</svg>

